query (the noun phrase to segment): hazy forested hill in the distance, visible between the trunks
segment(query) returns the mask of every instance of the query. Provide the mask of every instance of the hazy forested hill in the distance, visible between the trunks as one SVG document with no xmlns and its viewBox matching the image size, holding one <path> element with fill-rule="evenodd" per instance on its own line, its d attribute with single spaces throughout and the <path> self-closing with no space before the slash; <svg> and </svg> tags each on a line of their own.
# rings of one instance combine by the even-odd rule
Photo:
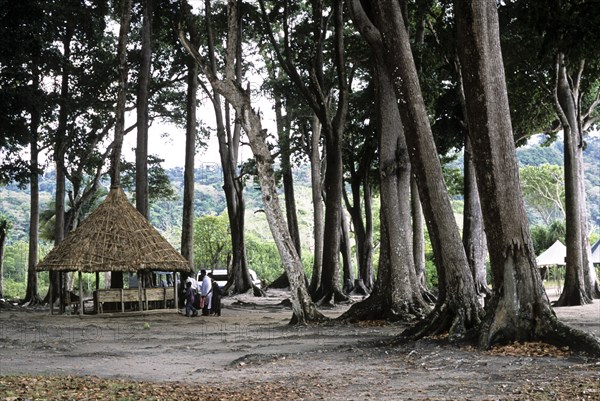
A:
<svg viewBox="0 0 600 401">
<path fill-rule="evenodd" d="M 563 164 L 563 144 L 556 141 L 549 146 L 540 146 L 539 143 L 529 144 L 517 149 L 517 157 L 522 166 L 537 166 L 543 163 Z M 600 137 L 591 137 L 587 140 L 584 152 L 586 165 L 586 188 L 588 196 L 588 210 L 590 221 L 596 227 L 600 226 Z M 456 160 L 453 165 L 462 166 L 462 160 Z M 166 170 L 169 180 L 178 200 L 159 201 L 151 205 L 150 220 L 167 239 L 178 246 L 180 242 L 180 227 L 183 204 L 183 169 L 173 168 Z M 298 203 L 298 216 L 303 226 L 303 238 L 310 238 L 312 227 L 312 202 L 310 191 L 310 169 L 308 166 L 297 168 L 294 171 L 296 197 Z M 219 215 L 226 211 L 225 194 L 223 192 L 222 171 L 218 165 L 206 164 L 196 169 L 195 184 L 195 211 L 196 215 Z M 55 190 L 55 175 L 49 172 L 40 177 L 40 207 L 46 209 L 50 206 Z M 257 185 L 249 179 L 244 191 L 246 200 L 247 228 L 258 237 L 269 238 L 270 233 L 262 209 L 260 191 Z M 29 224 L 29 188 L 19 189 L 15 185 L 0 187 L 0 213 L 7 215 L 13 223 L 9 232 L 9 242 L 26 240 Z"/>
</svg>

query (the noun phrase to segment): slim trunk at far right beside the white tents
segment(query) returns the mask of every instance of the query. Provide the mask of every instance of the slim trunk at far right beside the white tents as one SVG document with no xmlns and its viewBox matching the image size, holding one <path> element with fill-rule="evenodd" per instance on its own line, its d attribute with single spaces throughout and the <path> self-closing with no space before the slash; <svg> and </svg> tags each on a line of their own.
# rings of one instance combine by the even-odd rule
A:
<svg viewBox="0 0 600 401">
<path fill-rule="evenodd" d="M 585 276 L 587 265 L 584 266 L 584 234 L 582 232 L 582 199 L 581 182 L 583 176 L 580 164 L 583 158 L 583 139 L 577 118 L 579 99 L 575 98 L 567 76 L 564 56 L 557 57 L 556 108 L 562 121 L 564 132 L 565 158 L 565 214 L 566 214 L 566 247 L 567 258 L 565 267 L 565 284 L 557 306 L 584 305 L 592 302 L 592 297 L 586 292 Z"/>
</svg>

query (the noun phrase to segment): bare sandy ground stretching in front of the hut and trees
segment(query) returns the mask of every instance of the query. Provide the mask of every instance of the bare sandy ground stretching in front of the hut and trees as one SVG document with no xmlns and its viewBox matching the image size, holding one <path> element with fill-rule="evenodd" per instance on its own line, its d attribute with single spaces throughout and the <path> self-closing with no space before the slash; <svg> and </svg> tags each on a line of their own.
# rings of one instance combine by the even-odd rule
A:
<svg viewBox="0 0 600 401">
<path fill-rule="evenodd" d="M 315 400 L 550 400 L 561 399 L 566 383 L 577 387 L 578 399 L 600 400 L 598 359 L 482 352 L 433 339 L 389 346 L 404 326 L 381 322 L 290 327 L 291 310 L 281 305 L 287 294 L 267 294 L 224 298 L 221 317 L 151 311 L 80 318 L 3 309 L 0 376 L 94 375 L 242 389 L 276 383 Z M 335 318 L 347 307 L 322 312 Z M 555 311 L 600 337 L 599 301 Z"/>
</svg>

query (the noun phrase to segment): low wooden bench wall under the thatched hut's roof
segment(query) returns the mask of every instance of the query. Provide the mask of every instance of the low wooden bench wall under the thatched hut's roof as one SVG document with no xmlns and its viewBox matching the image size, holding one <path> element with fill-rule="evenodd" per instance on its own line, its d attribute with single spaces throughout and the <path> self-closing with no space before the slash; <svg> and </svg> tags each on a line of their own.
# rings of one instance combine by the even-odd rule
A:
<svg viewBox="0 0 600 401">
<path fill-rule="evenodd" d="M 167 308 L 167 302 L 175 300 L 173 287 L 144 288 L 142 291 L 142 303 L 148 310 L 148 302 L 162 302 L 162 307 Z M 137 288 L 111 288 L 94 291 L 94 305 L 98 313 L 103 313 L 105 302 L 116 302 L 121 304 L 121 312 L 125 312 L 125 302 L 140 302 Z M 140 305 L 141 307 L 141 305 Z"/>
</svg>

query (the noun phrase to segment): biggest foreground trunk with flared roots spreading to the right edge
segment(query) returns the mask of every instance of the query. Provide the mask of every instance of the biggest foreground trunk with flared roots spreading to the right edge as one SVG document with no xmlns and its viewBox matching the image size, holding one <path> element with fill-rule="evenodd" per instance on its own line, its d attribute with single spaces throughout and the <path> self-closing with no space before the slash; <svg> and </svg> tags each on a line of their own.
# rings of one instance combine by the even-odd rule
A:
<svg viewBox="0 0 600 401">
<path fill-rule="evenodd" d="M 456 0 L 454 10 L 493 278 L 479 344 L 543 340 L 600 353 L 593 336 L 558 322 L 537 270 L 519 185 L 496 2 Z"/>
</svg>

